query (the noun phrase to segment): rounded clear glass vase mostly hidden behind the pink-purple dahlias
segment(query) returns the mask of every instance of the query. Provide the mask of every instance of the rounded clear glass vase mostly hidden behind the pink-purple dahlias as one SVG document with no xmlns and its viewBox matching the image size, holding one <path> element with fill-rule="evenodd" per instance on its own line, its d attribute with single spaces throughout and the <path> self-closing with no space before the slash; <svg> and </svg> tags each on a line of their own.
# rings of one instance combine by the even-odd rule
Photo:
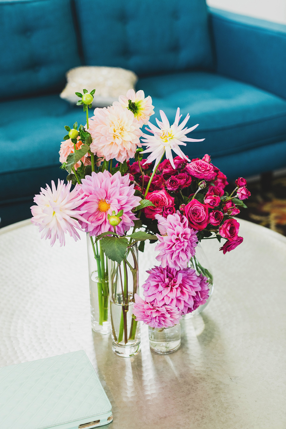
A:
<svg viewBox="0 0 286 429">
<path fill-rule="evenodd" d="M 197 275 L 202 274 L 208 279 L 209 292 L 207 302 L 203 305 L 199 305 L 199 307 L 191 313 L 188 313 L 183 316 L 185 319 L 189 319 L 190 317 L 196 316 L 196 314 L 202 313 L 202 311 L 210 302 L 211 296 L 214 292 L 214 277 L 212 275 L 211 265 L 208 262 L 208 258 L 206 257 L 205 252 L 203 251 L 200 243 L 198 243 L 196 247 L 196 254 L 194 257 L 191 258 L 188 266 L 195 269 Z"/>
</svg>

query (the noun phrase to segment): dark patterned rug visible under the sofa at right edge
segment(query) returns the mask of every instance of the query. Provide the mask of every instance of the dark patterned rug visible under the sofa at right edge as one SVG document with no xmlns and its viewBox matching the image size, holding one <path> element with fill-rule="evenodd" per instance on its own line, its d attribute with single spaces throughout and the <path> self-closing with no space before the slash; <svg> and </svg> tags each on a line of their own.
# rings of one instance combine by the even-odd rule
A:
<svg viewBox="0 0 286 429">
<path fill-rule="evenodd" d="M 233 186 L 228 186 L 233 190 Z M 270 228 L 286 236 L 286 175 L 274 177 L 263 187 L 261 181 L 250 181 L 247 188 L 251 196 L 245 201 L 238 218 Z"/>
</svg>

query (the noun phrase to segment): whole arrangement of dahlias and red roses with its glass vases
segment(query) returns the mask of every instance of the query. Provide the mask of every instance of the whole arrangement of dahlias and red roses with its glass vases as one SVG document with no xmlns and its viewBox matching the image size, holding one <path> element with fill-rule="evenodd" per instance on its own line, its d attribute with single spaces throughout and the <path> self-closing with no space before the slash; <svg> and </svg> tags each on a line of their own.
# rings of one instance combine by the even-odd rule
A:
<svg viewBox="0 0 286 429">
<path fill-rule="evenodd" d="M 59 153 L 68 184 L 59 180 L 56 187 L 52 181 L 41 189 L 31 207 L 32 222 L 51 245 L 56 239 L 64 245 L 65 233 L 75 241 L 78 230 L 87 233 L 96 285 L 93 329 L 108 333 L 111 326 L 114 353 L 133 356 L 140 351 L 139 320 L 153 332 L 176 326 L 176 345 L 167 347 L 173 351 L 180 345 L 179 320 L 206 303 L 212 284 L 211 273 L 196 258 L 196 246 L 202 239 L 223 238 L 227 241 L 220 250 L 226 253 L 239 245 L 243 239 L 233 216 L 250 193 L 243 178 L 232 194 L 224 192 L 226 176 L 208 155 L 190 160 L 181 151 L 186 142 L 204 139 L 186 136 L 198 124 L 185 127 L 189 115 L 180 124 L 179 108 L 172 125 L 160 111 L 156 127 L 149 121 L 154 114 L 151 97 L 129 90 L 89 118 L 94 92 L 76 93 L 86 112 L 85 126 L 65 126 L 68 134 Z M 144 124 L 148 133 L 141 130 Z M 144 153 L 149 154 L 146 159 Z M 145 240 L 157 242 L 160 266 L 148 271 L 143 301 L 138 250 L 144 251 Z"/>
</svg>

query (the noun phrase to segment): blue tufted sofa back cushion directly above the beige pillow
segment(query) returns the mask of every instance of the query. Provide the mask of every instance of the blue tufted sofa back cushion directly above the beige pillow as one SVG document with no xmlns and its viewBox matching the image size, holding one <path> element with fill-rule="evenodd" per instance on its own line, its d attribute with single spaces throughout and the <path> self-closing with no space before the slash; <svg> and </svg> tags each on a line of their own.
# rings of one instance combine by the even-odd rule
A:
<svg viewBox="0 0 286 429">
<path fill-rule="evenodd" d="M 205 0 L 75 0 L 85 63 L 139 76 L 212 65 Z"/>
</svg>

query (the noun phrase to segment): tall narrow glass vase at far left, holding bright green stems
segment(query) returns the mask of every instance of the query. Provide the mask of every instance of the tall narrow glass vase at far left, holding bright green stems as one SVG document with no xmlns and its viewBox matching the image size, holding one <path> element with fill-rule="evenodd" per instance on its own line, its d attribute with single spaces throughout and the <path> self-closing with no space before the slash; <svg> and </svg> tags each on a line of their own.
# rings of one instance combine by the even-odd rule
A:
<svg viewBox="0 0 286 429">
<path fill-rule="evenodd" d="M 106 335 L 111 332 L 107 258 L 100 240 L 94 242 L 95 238 L 87 233 L 91 327 L 94 332 Z"/>
</svg>

